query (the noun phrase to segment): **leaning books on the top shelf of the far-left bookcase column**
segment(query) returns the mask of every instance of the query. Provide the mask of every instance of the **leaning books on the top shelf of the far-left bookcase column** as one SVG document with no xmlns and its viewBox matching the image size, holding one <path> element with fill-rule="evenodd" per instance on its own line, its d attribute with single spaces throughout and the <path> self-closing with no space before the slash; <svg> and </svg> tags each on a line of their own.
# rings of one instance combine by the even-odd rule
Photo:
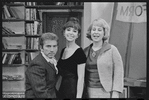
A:
<svg viewBox="0 0 149 100">
<path fill-rule="evenodd" d="M 2 19 L 24 19 L 24 15 L 20 13 L 22 10 L 23 6 L 3 5 Z"/>
</svg>

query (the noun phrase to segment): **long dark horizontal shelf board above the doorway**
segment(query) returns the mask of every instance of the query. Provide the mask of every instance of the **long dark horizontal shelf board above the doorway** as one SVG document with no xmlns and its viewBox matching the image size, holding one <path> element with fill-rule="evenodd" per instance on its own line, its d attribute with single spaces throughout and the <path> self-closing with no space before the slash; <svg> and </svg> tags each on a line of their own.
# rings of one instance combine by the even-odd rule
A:
<svg viewBox="0 0 149 100">
<path fill-rule="evenodd" d="M 70 6 L 70 5 L 37 5 L 38 9 L 84 9 L 84 6 L 78 5 L 78 6 Z"/>
</svg>

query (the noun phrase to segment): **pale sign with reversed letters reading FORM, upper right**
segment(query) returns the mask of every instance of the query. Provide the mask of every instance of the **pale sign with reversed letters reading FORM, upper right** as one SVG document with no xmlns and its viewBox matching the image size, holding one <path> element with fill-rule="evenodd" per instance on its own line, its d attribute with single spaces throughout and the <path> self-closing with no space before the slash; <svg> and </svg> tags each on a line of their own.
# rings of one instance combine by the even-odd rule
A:
<svg viewBox="0 0 149 100">
<path fill-rule="evenodd" d="M 146 22 L 147 12 L 145 2 L 118 3 L 116 20 L 122 22 Z"/>
</svg>

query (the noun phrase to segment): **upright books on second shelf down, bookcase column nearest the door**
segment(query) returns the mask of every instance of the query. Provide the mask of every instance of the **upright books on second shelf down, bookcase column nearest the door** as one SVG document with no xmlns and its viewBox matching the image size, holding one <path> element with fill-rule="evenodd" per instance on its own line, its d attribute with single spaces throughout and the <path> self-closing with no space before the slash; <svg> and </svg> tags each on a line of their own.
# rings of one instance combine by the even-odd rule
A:
<svg viewBox="0 0 149 100">
<path fill-rule="evenodd" d="M 41 26 L 41 24 L 38 21 L 34 21 L 34 23 L 27 23 L 26 24 L 26 34 L 27 35 L 40 34 L 40 26 Z"/>
</svg>

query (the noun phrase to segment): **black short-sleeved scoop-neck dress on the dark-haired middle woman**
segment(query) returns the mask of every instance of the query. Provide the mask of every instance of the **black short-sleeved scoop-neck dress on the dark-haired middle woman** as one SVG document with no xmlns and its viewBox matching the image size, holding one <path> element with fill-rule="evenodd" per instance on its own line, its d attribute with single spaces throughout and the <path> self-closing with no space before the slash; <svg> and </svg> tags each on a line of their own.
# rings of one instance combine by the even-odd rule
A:
<svg viewBox="0 0 149 100">
<path fill-rule="evenodd" d="M 86 55 L 82 48 L 78 48 L 69 58 L 62 59 L 64 49 L 62 49 L 57 64 L 59 74 L 62 75 L 59 98 L 76 98 L 78 80 L 77 65 L 86 62 Z"/>
</svg>

